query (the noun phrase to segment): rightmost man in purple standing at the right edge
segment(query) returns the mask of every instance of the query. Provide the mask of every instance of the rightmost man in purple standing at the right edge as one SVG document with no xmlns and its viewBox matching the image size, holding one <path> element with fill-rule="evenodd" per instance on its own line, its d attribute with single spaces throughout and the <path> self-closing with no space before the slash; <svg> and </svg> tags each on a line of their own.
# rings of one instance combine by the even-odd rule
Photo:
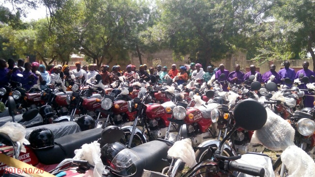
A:
<svg viewBox="0 0 315 177">
<path fill-rule="evenodd" d="M 302 66 L 303 66 L 303 69 L 299 70 L 297 72 L 297 74 L 295 75 L 295 78 L 299 78 L 299 74 L 304 74 L 304 76 L 307 76 L 310 78 L 311 75 L 315 75 L 313 71 L 309 70 L 308 67 L 309 67 L 310 63 L 308 61 L 304 61 Z M 313 81 L 311 81 L 313 82 Z M 305 84 L 300 84 L 299 85 L 299 88 L 306 88 L 306 85 Z M 311 97 L 311 96 L 307 96 L 307 95 L 310 95 L 307 91 L 305 91 L 305 99 L 303 101 L 303 104 L 304 104 L 304 107 L 313 107 L 313 102 L 314 102 L 314 97 Z"/>
</svg>

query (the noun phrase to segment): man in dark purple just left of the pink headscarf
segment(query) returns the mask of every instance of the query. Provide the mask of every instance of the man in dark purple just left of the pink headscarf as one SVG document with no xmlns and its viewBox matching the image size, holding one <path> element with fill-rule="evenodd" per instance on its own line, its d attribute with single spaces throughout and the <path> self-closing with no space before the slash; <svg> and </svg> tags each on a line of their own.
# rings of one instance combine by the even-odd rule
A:
<svg viewBox="0 0 315 177">
<path fill-rule="evenodd" d="M 21 73 L 23 77 L 20 78 L 16 75 L 17 73 L 15 73 L 12 74 L 12 80 L 21 83 L 23 88 L 29 90 L 37 83 L 38 77 L 31 72 L 31 63 L 24 63 L 24 68 L 25 71 Z"/>
</svg>

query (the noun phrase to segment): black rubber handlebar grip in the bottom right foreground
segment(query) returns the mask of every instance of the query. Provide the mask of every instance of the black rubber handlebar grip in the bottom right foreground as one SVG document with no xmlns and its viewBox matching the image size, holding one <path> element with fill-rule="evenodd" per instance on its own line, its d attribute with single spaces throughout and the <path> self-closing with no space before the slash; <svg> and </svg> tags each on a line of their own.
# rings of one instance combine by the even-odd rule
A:
<svg viewBox="0 0 315 177">
<path fill-rule="evenodd" d="M 257 166 L 252 166 L 248 164 L 242 164 L 238 163 L 236 161 L 230 161 L 229 162 L 229 170 L 231 171 L 238 171 L 241 173 L 245 173 L 248 175 L 252 175 L 254 177 L 259 176 L 259 177 L 264 177 L 265 176 L 265 169 L 262 167 L 257 167 Z"/>
</svg>

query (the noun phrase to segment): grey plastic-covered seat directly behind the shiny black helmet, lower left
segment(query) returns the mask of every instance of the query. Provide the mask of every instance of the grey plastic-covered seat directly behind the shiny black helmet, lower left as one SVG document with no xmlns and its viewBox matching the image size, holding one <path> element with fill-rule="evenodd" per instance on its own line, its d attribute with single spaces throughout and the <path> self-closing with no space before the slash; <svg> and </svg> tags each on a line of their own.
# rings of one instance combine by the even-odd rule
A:
<svg viewBox="0 0 315 177">
<path fill-rule="evenodd" d="M 81 132 L 79 125 L 76 122 L 61 122 L 47 125 L 40 125 L 26 129 L 26 139 L 29 139 L 30 133 L 37 128 L 47 128 L 54 134 L 54 139 L 63 137 L 67 134 Z"/>
</svg>

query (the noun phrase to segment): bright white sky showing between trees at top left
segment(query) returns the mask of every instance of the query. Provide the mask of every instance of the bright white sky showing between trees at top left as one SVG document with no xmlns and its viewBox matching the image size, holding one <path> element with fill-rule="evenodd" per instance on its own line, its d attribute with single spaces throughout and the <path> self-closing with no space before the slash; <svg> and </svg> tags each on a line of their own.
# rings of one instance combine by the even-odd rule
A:
<svg viewBox="0 0 315 177">
<path fill-rule="evenodd" d="M 0 5 L 3 5 L 4 7 L 9 8 L 12 12 L 16 12 L 13 7 L 12 4 L 10 3 L 4 3 L 2 0 L 0 0 Z M 46 7 L 45 6 L 39 6 L 36 10 L 34 9 L 29 9 L 29 13 L 27 14 L 27 17 L 22 16 L 21 19 L 25 22 L 29 22 L 31 20 L 38 20 L 41 18 L 45 18 L 46 17 Z"/>
</svg>

